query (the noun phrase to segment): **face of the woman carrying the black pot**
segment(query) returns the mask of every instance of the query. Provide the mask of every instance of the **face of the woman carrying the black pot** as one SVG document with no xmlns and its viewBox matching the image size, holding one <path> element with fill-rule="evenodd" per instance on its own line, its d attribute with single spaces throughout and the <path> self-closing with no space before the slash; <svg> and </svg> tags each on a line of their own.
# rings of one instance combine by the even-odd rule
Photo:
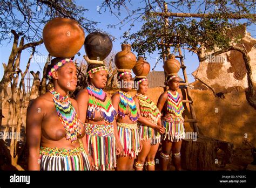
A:
<svg viewBox="0 0 256 188">
<path fill-rule="evenodd" d="M 107 71 L 102 70 L 98 71 L 93 74 L 89 74 L 91 84 L 99 89 L 102 89 L 106 86 L 106 81 L 107 81 Z"/>
</svg>

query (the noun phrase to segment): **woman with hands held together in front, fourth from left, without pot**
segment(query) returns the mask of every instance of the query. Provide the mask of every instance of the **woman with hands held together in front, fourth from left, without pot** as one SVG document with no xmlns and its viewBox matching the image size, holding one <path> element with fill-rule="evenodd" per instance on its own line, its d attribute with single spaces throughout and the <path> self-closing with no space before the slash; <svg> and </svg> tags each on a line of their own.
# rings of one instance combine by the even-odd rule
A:
<svg viewBox="0 0 256 188">
<path fill-rule="evenodd" d="M 136 170 L 143 170 L 146 161 L 147 170 L 155 170 L 154 157 L 159 147 L 161 134 L 165 133 L 165 128 L 161 125 L 160 111 L 146 95 L 149 87 L 146 76 L 136 76 L 134 83 L 139 86 L 133 99 L 140 114 L 138 119 L 139 136 L 143 144 L 134 166 Z"/>
</svg>

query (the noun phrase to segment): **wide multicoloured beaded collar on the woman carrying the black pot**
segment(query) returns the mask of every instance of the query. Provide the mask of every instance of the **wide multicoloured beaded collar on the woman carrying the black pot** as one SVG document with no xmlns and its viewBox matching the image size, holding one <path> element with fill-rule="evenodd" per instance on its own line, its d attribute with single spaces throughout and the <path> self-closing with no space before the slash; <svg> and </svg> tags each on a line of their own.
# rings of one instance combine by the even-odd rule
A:
<svg viewBox="0 0 256 188">
<path fill-rule="evenodd" d="M 95 110 L 97 110 L 97 112 L 100 112 L 100 115 L 104 117 L 105 122 L 112 123 L 117 116 L 117 112 L 112 106 L 111 100 L 107 94 L 103 89 L 98 89 L 92 85 L 88 85 L 86 89 L 89 94 L 87 117 L 94 119 Z"/>
</svg>

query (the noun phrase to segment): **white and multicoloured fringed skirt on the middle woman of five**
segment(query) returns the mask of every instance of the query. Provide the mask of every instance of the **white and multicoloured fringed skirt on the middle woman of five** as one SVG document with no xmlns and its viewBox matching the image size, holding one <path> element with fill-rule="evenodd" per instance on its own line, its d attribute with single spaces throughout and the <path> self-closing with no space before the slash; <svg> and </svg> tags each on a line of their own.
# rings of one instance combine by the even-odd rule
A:
<svg viewBox="0 0 256 188">
<path fill-rule="evenodd" d="M 117 122 L 119 140 L 124 148 L 124 156 L 135 157 L 139 154 L 139 131 L 136 124 Z"/>
</svg>

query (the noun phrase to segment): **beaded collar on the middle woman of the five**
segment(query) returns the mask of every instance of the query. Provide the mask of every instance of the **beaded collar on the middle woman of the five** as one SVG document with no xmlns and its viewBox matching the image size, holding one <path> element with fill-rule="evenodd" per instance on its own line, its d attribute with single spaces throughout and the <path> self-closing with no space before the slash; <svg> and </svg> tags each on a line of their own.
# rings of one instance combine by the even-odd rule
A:
<svg viewBox="0 0 256 188">
<path fill-rule="evenodd" d="M 125 117 L 126 109 L 128 109 L 129 119 L 134 122 L 137 121 L 139 114 L 138 114 L 135 102 L 132 99 L 132 96 L 128 93 L 122 92 L 122 90 L 120 90 L 118 93 L 120 96 L 120 102 L 118 106 L 118 115 L 120 117 Z"/>
</svg>

